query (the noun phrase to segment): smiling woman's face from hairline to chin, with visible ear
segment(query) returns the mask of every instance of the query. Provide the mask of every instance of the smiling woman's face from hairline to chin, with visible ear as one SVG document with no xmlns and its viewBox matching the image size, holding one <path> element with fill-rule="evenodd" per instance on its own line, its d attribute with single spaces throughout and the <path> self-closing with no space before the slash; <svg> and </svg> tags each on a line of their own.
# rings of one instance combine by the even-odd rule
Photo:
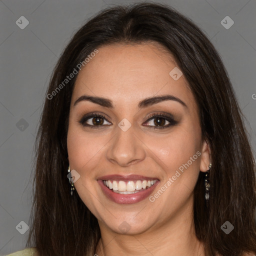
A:
<svg viewBox="0 0 256 256">
<path fill-rule="evenodd" d="M 101 231 L 135 234 L 191 219 L 209 150 L 177 68 L 157 43 L 114 44 L 98 48 L 78 73 L 68 160 Z"/>
</svg>

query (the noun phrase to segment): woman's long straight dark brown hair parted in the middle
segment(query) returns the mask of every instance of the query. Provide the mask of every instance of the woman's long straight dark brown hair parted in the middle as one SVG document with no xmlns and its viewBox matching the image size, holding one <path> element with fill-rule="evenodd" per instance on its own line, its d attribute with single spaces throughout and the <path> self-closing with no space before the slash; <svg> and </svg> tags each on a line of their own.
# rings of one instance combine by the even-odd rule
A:
<svg viewBox="0 0 256 256">
<path fill-rule="evenodd" d="M 210 198 L 204 173 L 194 188 L 194 226 L 205 255 L 256 253 L 255 163 L 232 86 L 211 42 L 188 18 L 155 3 L 100 11 L 72 37 L 51 76 L 47 95 L 99 46 L 158 42 L 174 57 L 199 109 L 203 139 L 210 145 Z M 86 67 L 85 67 L 86 68 Z M 76 75 L 75 75 L 76 77 Z M 93 255 L 100 238 L 97 219 L 77 192 L 70 196 L 66 136 L 75 77 L 45 98 L 36 138 L 35 190 L 27 245 L 40 256 Z M 220 226 L 234 229 L 225 234 Z"/>
</svg>

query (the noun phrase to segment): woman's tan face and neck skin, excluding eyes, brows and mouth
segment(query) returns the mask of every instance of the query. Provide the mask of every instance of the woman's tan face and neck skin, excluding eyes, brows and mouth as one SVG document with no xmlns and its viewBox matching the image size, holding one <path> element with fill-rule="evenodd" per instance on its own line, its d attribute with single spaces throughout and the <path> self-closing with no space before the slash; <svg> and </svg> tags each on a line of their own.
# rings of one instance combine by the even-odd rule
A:
<svg viewBox="0 0 256 256">
<path fill-rule="evenodd" d="M 155 42 L 112 44 L 98 50 L 75 81 L 67 134 L 70 169 L 80 174 L 75 189 L 100 227 L 95 253 L 203 256 L 193 227 L 193 189 L 199 171 L 209 169 L 210 151 L 201 137 L 198 109 L 188 82 L 183 75 L 178 80 L 169 75 L 177 65 Z M 74 105 L 84 94 L 108 98 L 113 108 L 88 100 Z M 187 107 L 165 100 L 138 108 L 140 100 L 164 94 L 178 97 Z M 90 112 L 104 114 L 104 125 L 82 126 L 79 120 Z M 148 116 L 159 112 L 171 113 L 177 124 L 154 129 L 155 119 Z M 118 126 L 123 118 L 131 124 L 127 131 Z M 166 120 L 162 126 L 167 124 Z M 145 198 L 118 204 L 109 200 L 97 183 L 98 177 L 108 174 L 153 176 L 159 179 L 153 195 L 197 151 L 200 156 L 154 202 Z M 126 233 L 119 230 L 123 221 L 130 226 Z"/>
</svg>

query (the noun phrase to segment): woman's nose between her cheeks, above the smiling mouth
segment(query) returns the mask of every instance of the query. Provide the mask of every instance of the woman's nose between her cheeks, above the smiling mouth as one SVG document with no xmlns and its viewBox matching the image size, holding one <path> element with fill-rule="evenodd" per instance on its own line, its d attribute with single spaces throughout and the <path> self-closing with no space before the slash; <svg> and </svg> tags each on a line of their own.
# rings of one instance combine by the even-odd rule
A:
<svg viewBox="0 0 256 256">
<path fill-rule="evenodd" d="M 116 127 L 116 134 L 111 139 L 106 155 L 112 163 L 125 167 L 143 160 L 146 153 L 144 144 L 134 133 L 131 125 L 126 131 Z"/>
</svg>

